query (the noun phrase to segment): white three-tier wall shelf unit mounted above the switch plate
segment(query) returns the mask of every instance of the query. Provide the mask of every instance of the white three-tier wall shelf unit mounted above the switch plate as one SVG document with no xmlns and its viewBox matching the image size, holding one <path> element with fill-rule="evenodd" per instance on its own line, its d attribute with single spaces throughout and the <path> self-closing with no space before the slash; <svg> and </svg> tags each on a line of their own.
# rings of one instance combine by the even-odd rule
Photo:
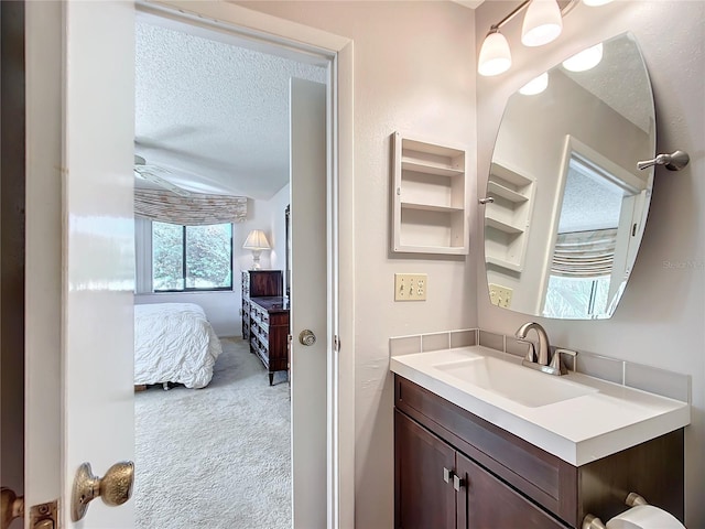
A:
<svg viewBox="0 0 705 529">
<path fill-rule="evenodd" d="M 392 251 L 468 252 L 465 150 L 410 139 L 393 142 Z"/>
</svg>

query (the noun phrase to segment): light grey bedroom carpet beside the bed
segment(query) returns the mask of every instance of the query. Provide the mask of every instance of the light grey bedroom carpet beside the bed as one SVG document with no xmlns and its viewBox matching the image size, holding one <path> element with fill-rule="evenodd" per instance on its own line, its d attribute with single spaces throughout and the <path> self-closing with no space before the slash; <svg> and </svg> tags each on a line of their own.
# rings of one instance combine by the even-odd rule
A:
<svg viewBox="0 0 705 529">
<path fill-rule="evenodd" d="M 291 528 L 291 400 L 240 338 L 204 389 L 134 396 L 135 528 Z"/>
</svg>

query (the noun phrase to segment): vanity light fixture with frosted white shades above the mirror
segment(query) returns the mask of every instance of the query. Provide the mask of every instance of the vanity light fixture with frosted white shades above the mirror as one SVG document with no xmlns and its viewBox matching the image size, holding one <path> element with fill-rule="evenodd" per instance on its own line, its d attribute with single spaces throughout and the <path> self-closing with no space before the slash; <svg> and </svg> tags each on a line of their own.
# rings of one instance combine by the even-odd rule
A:
<svg viewBox="0 0 705 529">
<path fill-rule="evenodd" d="M 579 0 L 570 0 L 561 9 L 556 0 L 524 0 L 507 17 L 492 24 L 480 46 L 477 73 L 489 77 L 503 74 L 511 66 L 511 51 L 500 29 L 517 14 L 527 10 L 521 28 L 521 42 L 525 46 L 542 46 L 553 42 L 563 29 L 563 17 L 577 6 Z M 603 6 L 611 0 L 583 0 L 586 6 Z"/>
</svg>

